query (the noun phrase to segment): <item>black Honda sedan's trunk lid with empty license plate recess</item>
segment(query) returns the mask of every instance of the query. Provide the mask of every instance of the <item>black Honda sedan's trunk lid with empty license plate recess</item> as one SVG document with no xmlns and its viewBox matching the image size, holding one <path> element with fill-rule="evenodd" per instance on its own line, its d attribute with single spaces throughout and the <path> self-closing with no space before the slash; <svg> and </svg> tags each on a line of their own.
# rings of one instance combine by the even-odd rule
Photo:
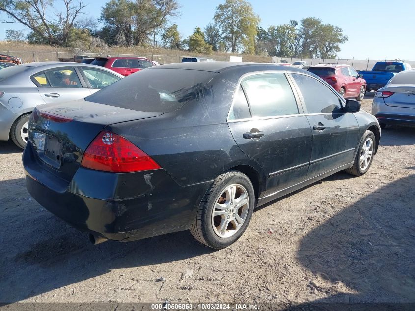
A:
<svg viewBox="0 0 415 311">
<path fill-rule="evenodd" d="M 161 114 L 85 100 L 40 105 L 30 119 L 29 140 L 42 168 L 69 182 L 81 165 L 85 149 L 106 126 Z"/>
</svg>

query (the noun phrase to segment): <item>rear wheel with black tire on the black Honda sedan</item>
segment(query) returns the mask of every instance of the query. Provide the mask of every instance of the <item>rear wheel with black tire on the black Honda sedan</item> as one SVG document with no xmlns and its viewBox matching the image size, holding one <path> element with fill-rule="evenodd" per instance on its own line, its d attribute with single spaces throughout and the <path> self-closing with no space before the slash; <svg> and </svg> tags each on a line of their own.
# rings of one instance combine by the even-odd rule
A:
<svg viewBox="0 0 415 311">
<path fill-rule="evenodd" d="M 190 232 L 211 248 L 225 248 L 245 232 L 254 205 L 249 178 L 240 171 L 229 170 L 214 180 L 203 197 Z"/>
</svg>

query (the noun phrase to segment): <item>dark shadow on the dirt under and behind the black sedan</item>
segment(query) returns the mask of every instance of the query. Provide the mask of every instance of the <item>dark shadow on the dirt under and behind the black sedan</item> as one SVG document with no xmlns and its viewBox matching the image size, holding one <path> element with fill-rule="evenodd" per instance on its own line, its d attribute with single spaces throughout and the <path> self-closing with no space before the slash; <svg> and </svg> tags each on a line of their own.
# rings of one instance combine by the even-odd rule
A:
<svg viewBox="0 0 415 311">
<path fill-rule="evenodd" d="M 0 205 L 0 302 L 17 302 L 114 269 L 215 252 L 196 242 L 189 231 L 92 245 L 85 232 L 42 208 L 23 187 L 23 178 L 0 182 L 1 193 L 19 189 L 17 195 L 2 195 Z"/>
</svg>

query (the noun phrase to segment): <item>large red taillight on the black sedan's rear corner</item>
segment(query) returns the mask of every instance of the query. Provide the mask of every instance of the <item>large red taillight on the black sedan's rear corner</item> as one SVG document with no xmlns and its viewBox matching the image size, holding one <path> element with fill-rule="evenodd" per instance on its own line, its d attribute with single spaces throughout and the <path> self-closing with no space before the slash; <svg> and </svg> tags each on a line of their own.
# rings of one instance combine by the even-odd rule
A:
<svg viewBox="0 0 415 311">
<path fill-rule="evenodd" d="M 81 166 L 113 173 L 156 170 L 160 166 L 122 136 L 102 131 L 86 148 Z"/>
</svg>

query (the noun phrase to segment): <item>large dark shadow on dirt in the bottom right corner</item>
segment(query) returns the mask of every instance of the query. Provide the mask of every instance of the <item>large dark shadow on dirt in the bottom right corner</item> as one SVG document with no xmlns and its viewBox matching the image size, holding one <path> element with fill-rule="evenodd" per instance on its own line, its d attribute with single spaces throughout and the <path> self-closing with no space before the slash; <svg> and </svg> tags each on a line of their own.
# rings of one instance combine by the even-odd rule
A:
<svg viewBox="0 0 415 311">
<path fill-rule="evenodd" d="M 308 288 L 328 293 L 313 303 L 415 302 L 414 185 L 415 171 L 349 205 L 301 240 L 298 260 L 315 275 Z M 339 283 L 355 293 L 330 295 Z"/>
</svg>

